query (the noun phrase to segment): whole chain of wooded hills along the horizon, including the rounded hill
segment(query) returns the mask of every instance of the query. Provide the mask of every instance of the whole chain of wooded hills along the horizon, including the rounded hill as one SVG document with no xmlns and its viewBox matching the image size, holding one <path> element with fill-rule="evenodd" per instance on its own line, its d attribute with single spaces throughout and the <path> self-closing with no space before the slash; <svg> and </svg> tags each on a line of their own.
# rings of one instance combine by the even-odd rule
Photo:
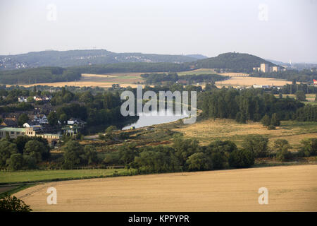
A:
<svg viewBox="0 0 317 226">
<path fill-rule="evenodd" d="M 235 52 L 198 60 L 180 55 L 116 54 L 104 49 L 30 52 L 9 57 L 2 56 L 6 66 L 10 65 L 7 64 L 8 59 L 23 62 L 18 65 L 26 66 L 22 66 L 22 69 L 0 71 L 0 83 L 3 84 L 75 81 L 80 79 L 82 73 L 178 72 L 200 68 L 250 73 L 253 67 L 260 66 L 261 63 L 275 66 L 260 57 Z M 75 66 L 68 66 L 72 64 Z M 14 69 L 16 65 L 11 64 L 11 68 Z"/>
</svg>

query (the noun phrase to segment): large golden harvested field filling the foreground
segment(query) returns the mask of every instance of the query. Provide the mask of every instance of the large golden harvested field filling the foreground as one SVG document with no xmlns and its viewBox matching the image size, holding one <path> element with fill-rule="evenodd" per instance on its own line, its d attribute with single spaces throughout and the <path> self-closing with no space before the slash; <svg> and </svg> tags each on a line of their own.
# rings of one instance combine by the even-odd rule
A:
<svg viewBox="0 0 317 226">
<path fill-rule="evenodd" d="M 15 196 L 35 211 L 317 211 L 316 177 L 317 165 L 261 167 L 51 182 Z"/>
</svg>

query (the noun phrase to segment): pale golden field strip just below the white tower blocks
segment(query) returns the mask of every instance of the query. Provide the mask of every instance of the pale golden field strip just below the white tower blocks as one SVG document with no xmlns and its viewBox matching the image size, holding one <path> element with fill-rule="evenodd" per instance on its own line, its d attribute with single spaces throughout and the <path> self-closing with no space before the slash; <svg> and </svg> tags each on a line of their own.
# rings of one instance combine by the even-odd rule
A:
<svg viewBox="0 0 317 226">
<path fill-rule="evenodd" d="M 249 76 L 232 76 L 230 79 L 225 81 L 217 81 L 218 87 L 222 86 L 251 86 L 251 85 L 286 85 L 291 84 L 290 81 L 275 78 L 257 78 Z"/>
</svg>

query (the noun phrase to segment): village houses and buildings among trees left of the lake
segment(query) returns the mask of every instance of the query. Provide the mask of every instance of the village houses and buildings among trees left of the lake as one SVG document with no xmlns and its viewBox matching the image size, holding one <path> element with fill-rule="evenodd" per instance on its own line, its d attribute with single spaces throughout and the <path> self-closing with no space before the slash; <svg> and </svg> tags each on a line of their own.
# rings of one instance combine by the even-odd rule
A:
<svg viewBox="0 0 317 226">
<path fill-rule="evenodd" d="M 5 99 L 6 97 L 2 96 L 1 98 Z M 38 136 L 45 138 L 49 144 L 56 145 L 63 134 L 75 136 L 85 124 L 85 121 L 72 117 L 66 121 L 58 120 L 57 126 L 51 125 L 48 119 L 49 113 L 56 112 L 56 107 L 50 103 L 51 96 L 18 97 L 19 103 L 27 103 L 32 100 L 34 100 L 31 103 L 33 109 L 1 113 L 0 138 Z M 38 102 L 41 102 L 41 105 L 38 105 Z"/>
</svg>

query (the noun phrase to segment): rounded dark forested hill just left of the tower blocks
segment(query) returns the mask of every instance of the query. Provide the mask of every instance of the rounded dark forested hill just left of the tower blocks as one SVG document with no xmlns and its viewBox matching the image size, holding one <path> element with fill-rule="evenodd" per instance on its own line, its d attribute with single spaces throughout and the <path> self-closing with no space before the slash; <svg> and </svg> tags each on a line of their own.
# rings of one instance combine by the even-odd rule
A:
<svg viewBox="0 0 317 226">
<path fill-rule="evenodd" d="M 228 52 L 219 54 L 217 57 L 200 59 L 195 61 L 193 65 L 198 69 L 225 69 L 226 71 L 249 73 L 253 70 L 253 67 L 259 67 L 262 63 L 269 64 L 269 66 L 275 66 L 275 64 L 260 57 L 236 52 Z"/>
</svg>

